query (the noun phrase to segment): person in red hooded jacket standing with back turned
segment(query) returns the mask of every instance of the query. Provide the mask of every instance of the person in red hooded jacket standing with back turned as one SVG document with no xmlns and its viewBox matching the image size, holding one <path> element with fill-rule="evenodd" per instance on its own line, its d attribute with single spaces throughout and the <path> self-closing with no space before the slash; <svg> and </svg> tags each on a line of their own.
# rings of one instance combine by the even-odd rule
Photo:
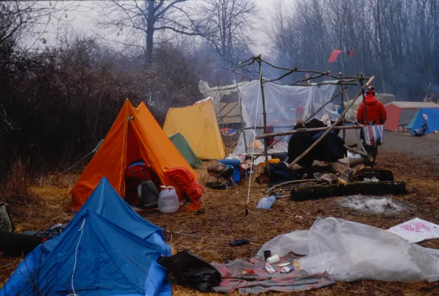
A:
<svg viewBox="0 0 439 296">
<path fill-rule="evenodd" d="M 359 104 L 357 122 L 364 125 L 383 125 L 385 119 L 387 119 L 387 113 L 385 112 L 383 103 L 379 102 L 377 97 L 375 97 L 375 89 L 372 85 L 369 87 L 368 92 L 364 97 L 364 101 L 366 101 L 366 107 L 364 106 L 364 102 Z M 363 129 L 361 129 L 360 138 L 364 139 Z M 375 163 L 375 159 L 378 155 L 377 146 L 378 144 L 375 144 L 374 146 L 366 145 L 366 141 L 364 141 L 364 148 L 366 149 L 366 152 L 373 157 L 373 163 Z"/>
</svg>

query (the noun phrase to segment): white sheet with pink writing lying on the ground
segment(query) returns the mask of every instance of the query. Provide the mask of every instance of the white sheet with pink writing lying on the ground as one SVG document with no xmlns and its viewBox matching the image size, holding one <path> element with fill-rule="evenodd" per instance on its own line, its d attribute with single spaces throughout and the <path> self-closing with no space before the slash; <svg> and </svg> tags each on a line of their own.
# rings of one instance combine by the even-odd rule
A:
<svg viewBox="0 0 439 296">
<path fill-rule="evenodd" d="M 420 218 L 414 218 L 400 225 L 396 225 L 387 229 L 405 238 L 409 242 L 422 242 L 423 240 L 431 240 L 433 238 L 439 238 L 439 225 L 422 220 Z"/>
</svg>

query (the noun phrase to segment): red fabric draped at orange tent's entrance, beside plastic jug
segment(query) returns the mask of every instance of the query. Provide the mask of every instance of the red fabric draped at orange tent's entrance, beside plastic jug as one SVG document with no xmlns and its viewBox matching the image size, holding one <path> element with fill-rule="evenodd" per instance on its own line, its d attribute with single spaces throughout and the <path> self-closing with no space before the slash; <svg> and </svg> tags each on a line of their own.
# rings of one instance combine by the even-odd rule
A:
<svg viewBox="0 0 439 296">
<path fill-rule="evenodd" d="M 195 181 L 193 174 L 185 167 L 171 168 L 166 171 L 166 174 L 181 187 L 182 192 L 185 192 L 187 196 L 191 198 L 192 204 L 189 205 L 189 210 L 197 211 L 200 209 L 204 188 L 200 183 Z"/>
</svg>

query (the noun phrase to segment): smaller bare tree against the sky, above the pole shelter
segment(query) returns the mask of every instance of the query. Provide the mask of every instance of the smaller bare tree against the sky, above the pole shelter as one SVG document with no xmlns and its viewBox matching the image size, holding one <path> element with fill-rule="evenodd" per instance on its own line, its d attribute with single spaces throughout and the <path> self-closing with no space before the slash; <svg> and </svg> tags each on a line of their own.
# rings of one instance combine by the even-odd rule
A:
<svg viewBox="0 0 439 296">
<path fill-rule="evenodd" d="M 233 65 L 239 56 L 248 56 L 258 8 L 254 0 L 205 0 L 202 15 L 209 20 L 204 38 L 217 54 Z M 253 30 L 253 31 L 252 31 Z"/>
</svg>

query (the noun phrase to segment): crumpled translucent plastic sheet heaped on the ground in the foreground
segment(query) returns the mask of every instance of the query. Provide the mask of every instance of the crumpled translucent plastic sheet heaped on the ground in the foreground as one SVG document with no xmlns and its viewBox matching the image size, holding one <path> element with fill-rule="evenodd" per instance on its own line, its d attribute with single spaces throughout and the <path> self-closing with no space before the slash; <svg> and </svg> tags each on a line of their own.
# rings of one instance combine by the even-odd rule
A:
<svg viewBox="0 0 439 296">
<path fill-rule="evenodd" d="M 283 256 L 305 255 L 300 266 L 310 274 L 327 271 L 340 282 L 439 280 L 439 258 L 395 234 L 337 218 L 318 218 L 309 231 L 277 236 L 259 250 Z"/>
</svg>

